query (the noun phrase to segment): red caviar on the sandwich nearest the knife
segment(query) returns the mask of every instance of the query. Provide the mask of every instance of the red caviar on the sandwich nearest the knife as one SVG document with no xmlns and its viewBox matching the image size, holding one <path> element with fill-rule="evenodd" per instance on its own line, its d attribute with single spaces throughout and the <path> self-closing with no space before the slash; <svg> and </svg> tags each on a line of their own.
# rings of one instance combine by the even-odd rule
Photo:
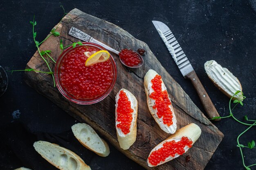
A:
<svg viewBox="0 0 256 170">
<path fill-rule="evenodd" d="M 156 75 L 152 80 L 153 93 L 149 95 L 151 99 L 155 100 L 154 109 L 157 109 L 158 118 L 163 117 L 163 123 L 171 126 L 173 124 L 173 113 L 169 105 L 171 105 L 171 100 L 168 97 L 167 91 L 162 91 L 162 81 L 161 76 Z"/>
</svg>

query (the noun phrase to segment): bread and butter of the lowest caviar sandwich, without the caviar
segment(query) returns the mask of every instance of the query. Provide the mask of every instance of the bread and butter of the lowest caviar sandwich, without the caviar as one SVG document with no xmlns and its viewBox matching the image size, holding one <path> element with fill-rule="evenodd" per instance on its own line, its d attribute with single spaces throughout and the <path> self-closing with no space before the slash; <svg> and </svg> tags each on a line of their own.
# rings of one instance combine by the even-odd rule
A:
<svg viewBox="0 0 256 170">
<path fill-rule="evenodd" d="M 172 134 L 170 135 L 170 137 L 168 137 L 167 139 L 165 139 L 164 141 L 162 141 L 160 144 L 158 144 L 157 146 L 155 146 L 155 148 L 153 148 L 153 150 L 151 150 L 150 154 L 148 155 L 148 157 L 151 155 L 152 152 L 154 152 L 155 150 L 158 150 L 159 148 L 162 148 L 163 147 L 163 144 L 167 141 L 173 141 L 175 140 L 175 142 L 177 141 L 180 141 L 182 137 L 188 137 L 189 140 L 193 141 L 192 145 L 195 143 L 195 141 L 198 140 L 198 138 L 200 137 L 201 135 L 201 129 L 198 125 L 196 124 L 188 124 L 186 126 L 184 126 L 183 128 L 180 128 L 179 130 L 177 130 L 175 132 L 175 134 Z M 184 147 L 184 150 L 185 152 L 187 152 L 189 150 L 189 147 L 188 146 L 185 146 Z M 171 161 L 177 157 L 179 157 L 180 155 L 179 154 L 175 154 L 174 157 L 167 157 L 165 159 L 165 161 L 160 161 L 159 164 L 157 164 L 157 166 L 163 164 L 163 163 L 166 163 L 168 161 Z M 153 165 L 151 165 L 148 161 L 148 166 L 150 167 L 153 167 Z"/>
</svg>

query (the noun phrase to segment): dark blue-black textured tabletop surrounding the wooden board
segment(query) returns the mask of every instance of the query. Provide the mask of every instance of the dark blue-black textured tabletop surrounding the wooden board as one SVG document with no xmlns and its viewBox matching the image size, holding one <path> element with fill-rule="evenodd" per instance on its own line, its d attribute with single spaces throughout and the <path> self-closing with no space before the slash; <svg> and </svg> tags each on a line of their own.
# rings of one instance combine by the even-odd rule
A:
<svg viewBox="0 0 256 170">
<path fill-rule="evenodd" d="M 25 68 L 36 51 L 32 26 L 29 24 L 34 14 L 37 21 L 37 39 L 41 41 L 61 19 L 63 11 L 60 5 L 63 5 L 67 12 L 78 8 L 85 13 L 112 22 L 135 38 L 146 42 L 166 70 L 204 112 L 191 83 L 182 77 L 151 22 L 151 20 L 159 20 L 166 23 L 174 33 L 220 115 L 229 114 L 229 98 L 218 91 L 207 77 L 204 71 L 204 62 L 207 60 L 216 60 L 240 80 L 247 99 L 243 107 L 234 110 L 236 117 L 243 119 L 243 116 L 247 115 L 250 119 L 255 119 L 256 4 L 254 3 L 255 0 L 229 0 L 227 2 L 222 0 L 200 2 L 198 0 L 130 0 L 123 2 L 119 0 L 76 0 L 72 2 L 2 0 L 0 2 L 0 65 L 7 71 Z M 23 72 L 8 74 L 9 87 L 0 98 L 0 132 L 12 121 L 21 121 L 32 132 L 48 133 L 65 133 L 76 123 L 75 119 L 61 108 L 27 86 L 23 81 Z M 236 137 L 246 127 L 236 123 L 233 119 L 223 119 L 214 124 L 225 137 L 205 170 L 243 170 L 239 148 L 236 147 Z M 241 137 L 241 143 L 245 145 L 253 139 L 256 140 L 255 128 Z M 79 147 L 79 144 L 75 146 Z M 101 158 L 88 151 L 86 151 L 87 154 L 81 152 L 79 155 L 93 170 L 143 169 L 112 146 L 110 150 L 111 153 L 107 158 Z M 256 150 L 243 150 L 246 165 L 256 163 Z M 4 157 L 1 151 L 1 157 Z M 29 157 L 25 150 L 23 152 L 26 157 Z M 0 159 L 0 169 L 11 170 L 20 166 L 27 166 L 34 170 L 40 169 L 39 165 L 31 167 L 19 158 L 11 162 L 12 164 L 1 167 L 4 163 Z M 46 161 L 43 162 L 43 164 L 46 163 Z"/>
</svg>

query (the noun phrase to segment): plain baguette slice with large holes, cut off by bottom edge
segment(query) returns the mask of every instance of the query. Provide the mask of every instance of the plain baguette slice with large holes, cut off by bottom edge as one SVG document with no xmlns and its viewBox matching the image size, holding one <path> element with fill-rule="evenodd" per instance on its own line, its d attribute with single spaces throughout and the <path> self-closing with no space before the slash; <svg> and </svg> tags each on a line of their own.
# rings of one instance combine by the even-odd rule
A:
<svg viewBox="0 0 256 170">
<path fill-rule="evenodd" d="M 36 141 L 34 148 L 44 159 L 60 170 L 91 170 L 90 166 L 74 152 L 56 144 Z"/>
</svg>

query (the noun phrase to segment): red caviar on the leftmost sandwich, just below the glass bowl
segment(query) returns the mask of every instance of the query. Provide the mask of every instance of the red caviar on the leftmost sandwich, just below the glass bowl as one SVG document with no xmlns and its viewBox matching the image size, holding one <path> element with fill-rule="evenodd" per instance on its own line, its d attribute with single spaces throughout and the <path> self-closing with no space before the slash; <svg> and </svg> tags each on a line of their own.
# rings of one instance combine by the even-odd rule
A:
<svg viewBox="0 0 256 170">
<path fill-rule="evenodd" d="M 130 125 L 132 122 L 133 109 L 131 108 L 131 102 L 124 91 L 120 91 L 119 99 L 117 102 L 117 121 L 121 122 L 117 124 L 117 128 L 120 128 L 124 135 L 130 132 Z"/>
</svg>

